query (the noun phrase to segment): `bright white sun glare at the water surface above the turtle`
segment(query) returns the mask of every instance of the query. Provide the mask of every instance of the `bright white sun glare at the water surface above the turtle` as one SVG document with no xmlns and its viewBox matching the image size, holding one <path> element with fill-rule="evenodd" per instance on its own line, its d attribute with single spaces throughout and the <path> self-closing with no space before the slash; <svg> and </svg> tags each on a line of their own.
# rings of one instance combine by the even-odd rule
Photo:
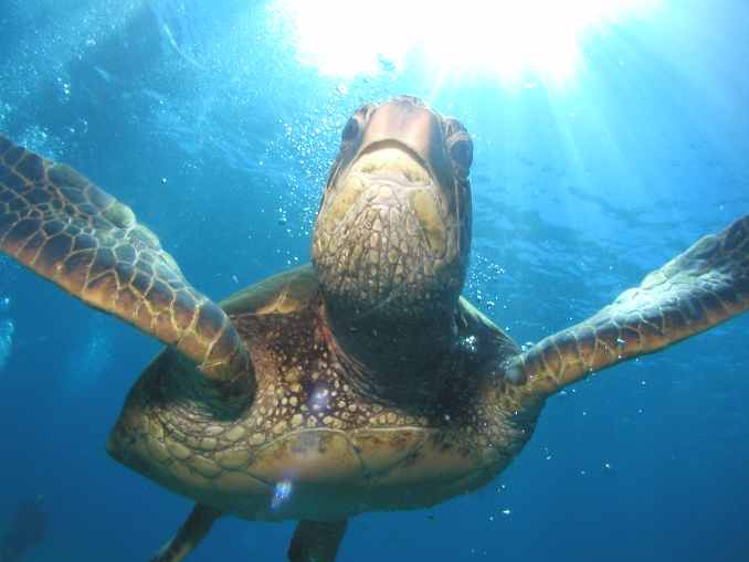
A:
<svg viewBox="0 0 749 562">
<path fill-rule="evenodd" d="M 402 68 L 422 51 L 445 73 L 574 75 L 586 33 L 657 0 L 275 0 L 299 61 L 350 77 Z"/>
</svg>

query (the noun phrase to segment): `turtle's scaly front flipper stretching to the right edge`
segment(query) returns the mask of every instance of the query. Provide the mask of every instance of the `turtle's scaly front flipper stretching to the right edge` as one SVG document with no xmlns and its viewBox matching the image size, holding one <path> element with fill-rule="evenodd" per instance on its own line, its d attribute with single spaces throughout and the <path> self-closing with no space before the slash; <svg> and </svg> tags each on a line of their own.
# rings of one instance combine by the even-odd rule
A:
<svg viewBox="0 0 749 562">
<path fill-rule="evenodd" d="M 591 318 L 513 358 L 507 378 L 548 395 L 587 374 L 652 353 L 749 307 L 749 215 L 705 236 Z"/>
</svg>

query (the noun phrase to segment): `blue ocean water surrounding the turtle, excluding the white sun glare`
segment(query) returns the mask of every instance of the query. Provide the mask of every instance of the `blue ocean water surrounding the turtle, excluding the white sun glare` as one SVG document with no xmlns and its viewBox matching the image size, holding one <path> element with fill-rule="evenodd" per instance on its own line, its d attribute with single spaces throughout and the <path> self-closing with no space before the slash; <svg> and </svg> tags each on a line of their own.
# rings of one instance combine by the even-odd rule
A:
<svg viewBox="0 0 749 562">
<path fill-rule="evenodd" d="M 559 87 L 440 77 L 419 53 L 324 74 L 268 14 L 0 0 L 0 131 L 129 204 L 221 298 L 309 259 L 356 107 L 423 97 L 474 138 L 465 295 L 520 343 L 749 212 L 746 2 L 661 2 L 590 36 Z M 748 329 L 745 315 L 556 395 L 492 485 L 358 517 L 339 560 L 749 560 Z M 50 515 L 25 560 L 145 561 L 182 522 L 189 501 L 104 452 L 159 349 L 0 257 L 0 532 L 23 498 L 43 495 Z M 284 560 L 292 529 L 221 521 L 190 560 Z"/>
</svg>

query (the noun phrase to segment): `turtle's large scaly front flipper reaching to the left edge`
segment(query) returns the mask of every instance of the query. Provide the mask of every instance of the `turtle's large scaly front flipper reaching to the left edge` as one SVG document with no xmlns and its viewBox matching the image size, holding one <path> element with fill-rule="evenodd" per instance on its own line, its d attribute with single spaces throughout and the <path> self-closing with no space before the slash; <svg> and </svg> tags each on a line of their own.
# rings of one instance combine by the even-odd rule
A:
<svg viewBox="0 0 749 562">
<path fill-rule="evenodd" d="M 247 350 L 232 321 L 190 286 L 133 211 L 72 168 L 2 136 L 0 250 L 173 346 L 208 379 L 254 391 Z"/>
</svg>

